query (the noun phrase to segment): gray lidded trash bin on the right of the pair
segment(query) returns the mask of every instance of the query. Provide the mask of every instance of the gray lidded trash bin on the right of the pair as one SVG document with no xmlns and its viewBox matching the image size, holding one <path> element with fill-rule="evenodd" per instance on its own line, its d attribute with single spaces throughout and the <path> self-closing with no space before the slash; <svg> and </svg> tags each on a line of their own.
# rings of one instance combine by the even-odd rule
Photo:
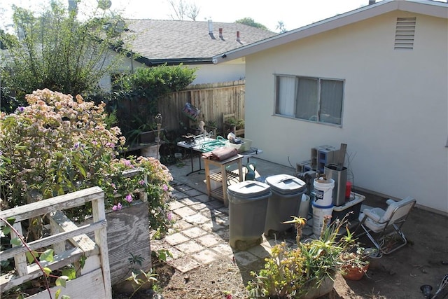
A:
<svg viewBox="0 0 448 299">
<path fill-rule="evenodd" d="M 307 183 L 289 174 L 268 176 L 266 183 L 271 187 L 272 196 L 267 203 L 265 236 L 284 232 L 291 224 L 283 221 L 292 220 L 299 215 L 302 194 L 307 191 Z"/>
</svg>

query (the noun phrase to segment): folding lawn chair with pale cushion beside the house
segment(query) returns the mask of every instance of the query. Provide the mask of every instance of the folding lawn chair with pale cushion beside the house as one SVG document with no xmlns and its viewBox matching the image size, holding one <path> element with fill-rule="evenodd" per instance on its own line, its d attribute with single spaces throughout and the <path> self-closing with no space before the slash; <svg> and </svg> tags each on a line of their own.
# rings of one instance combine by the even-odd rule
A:
<svg viewBox="0 0 448 299">
<path fill-rule="evenodd" d="M 374 207 L 372 209 L 364 209 L 359 214 L 359 225 L 356 228 L 363 228 L 358 236 L 367 235 L 375 247 L 378 249 L 378 257 L 382 254 L 389 254 L 407 244 L 405 234 L 401 227 L 405 223 L 409 211 L 414 207 L 416 200 L 410 196 L 404 200 L 387 201 L 388 207 L 386 211 Z"/>
</svg>

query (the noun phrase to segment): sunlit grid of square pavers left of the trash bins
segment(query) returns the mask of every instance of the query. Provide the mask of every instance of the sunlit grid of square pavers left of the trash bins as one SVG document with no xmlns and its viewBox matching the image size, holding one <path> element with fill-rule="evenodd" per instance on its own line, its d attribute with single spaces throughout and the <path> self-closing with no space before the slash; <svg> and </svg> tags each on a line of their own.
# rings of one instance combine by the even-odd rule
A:
<svg viewBox="0 0 448 299">
<path fill-rule="evenodd" d="M 229 209 L 223 202 L 210 199 L 185 184 L 175 185 L 174 189 L 175 196 L 169 202 L 169 209 L 174 213 L 176 223 L 164 240 L 153 245 L 153 249 L 166 249 L 172 253 L 173 256 L 167 258 L 169 265 L 188 272 L 225 257 L 244 266 L 269 254 L 270 244 L 266 240 L 248 251 L 232 249 L 228 242 Z"/>
</svg>

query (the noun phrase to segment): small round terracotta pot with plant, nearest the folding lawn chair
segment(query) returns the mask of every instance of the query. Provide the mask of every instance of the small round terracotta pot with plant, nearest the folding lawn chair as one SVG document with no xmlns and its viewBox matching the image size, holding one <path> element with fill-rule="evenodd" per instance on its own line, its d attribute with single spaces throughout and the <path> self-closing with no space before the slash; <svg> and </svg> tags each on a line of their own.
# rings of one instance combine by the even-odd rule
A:
<svg viewBox="0 0 448 299">
<path fill-rule="evenodd" d="M 356 246 L 355 250 L 343 252 L 340 256 L 342 277 L 349 280 L 360 280 L 369 269 L 369 254 L 364 247 Z"/>
</svg>

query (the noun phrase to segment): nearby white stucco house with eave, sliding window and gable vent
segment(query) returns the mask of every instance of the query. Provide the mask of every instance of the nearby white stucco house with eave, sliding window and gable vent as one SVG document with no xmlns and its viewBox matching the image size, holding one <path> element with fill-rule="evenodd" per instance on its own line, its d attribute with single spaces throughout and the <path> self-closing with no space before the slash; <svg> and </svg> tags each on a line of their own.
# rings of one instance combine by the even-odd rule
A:
<svg viewBox="0 0 448 299">
<path fill-rule="evenodd" d="M 263 159 L 344 143 L 356 188 L 448 214 L 447 3 L 379 1 L 214 57 L 241 58 Z"/>
</svg>

